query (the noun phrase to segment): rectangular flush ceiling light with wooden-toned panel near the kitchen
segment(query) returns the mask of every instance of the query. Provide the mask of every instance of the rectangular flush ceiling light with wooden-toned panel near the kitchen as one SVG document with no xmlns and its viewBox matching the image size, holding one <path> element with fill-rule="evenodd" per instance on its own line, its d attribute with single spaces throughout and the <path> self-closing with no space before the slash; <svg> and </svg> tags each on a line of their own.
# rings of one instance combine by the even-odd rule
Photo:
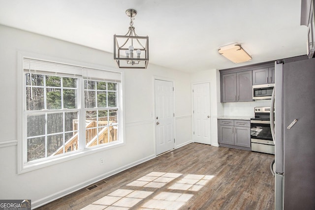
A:
<svg viewBox="0 0 315 210">
<path fill-rule="evenodd" d="M 222 46 L 219 48 L 218 52 L 234 63 L 252 60 L 252 57 L 238 43 Z"/>
</svg>

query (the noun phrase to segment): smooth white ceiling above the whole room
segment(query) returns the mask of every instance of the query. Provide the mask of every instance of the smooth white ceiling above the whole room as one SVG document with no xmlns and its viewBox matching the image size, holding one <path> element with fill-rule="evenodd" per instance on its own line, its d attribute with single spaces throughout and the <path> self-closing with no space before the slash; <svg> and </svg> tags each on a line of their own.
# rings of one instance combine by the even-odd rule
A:
<svg viewBox="0 0 315 210">
<path fill-rule="evenodd" d="M 300 0 L 0 0 L 0 24 L 113 53 L 129 8 L 136 33 L 149 36 L 149 65 L 196 72 L 306 54 Z M 218 54 L 234 42 L 252 61 Z"/>
</svg>

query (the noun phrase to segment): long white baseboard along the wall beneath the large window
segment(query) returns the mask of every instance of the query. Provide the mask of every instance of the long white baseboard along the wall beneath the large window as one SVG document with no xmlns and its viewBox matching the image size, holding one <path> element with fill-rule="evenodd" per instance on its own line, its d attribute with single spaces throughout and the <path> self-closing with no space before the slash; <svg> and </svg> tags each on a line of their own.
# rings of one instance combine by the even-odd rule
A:
<svg viewBox="0 0 315 210">
<path fill-rule="evenodd" d="M 32 201 L 32 209 L 36 209 L 38 207 L 41 207 L 41 206 L 43 206 L 45 204 L 48 204 L 48 203 L 50 203 L 52 201 L 55 201 L 55 200 L 57 200 L 59 198 L 62 198 L 64 196 L 66 196 L 66 195 L 69 195 L 69 194 L 71 194 L 71 193 L 73 193 L 75 191 L 78 191 L 78 190 L 80 190 L 80 189 L 82 189 L 84 187 L 87 187 L 87 186 L 89 186 L 89 185 L 91 185 L 91 184 L 93 184 L 93 183 L 95 183 L 97 181 L 106 179 L 106 178 L 108 178 L 110 176 L 113 176 L 113 175 L 118 174 L 118 173 L 120 173 L 122 171 L 125 171 L 126 169 L 129 169 L 131 167 L 134 167 L 136 165 L 144 163 L 144 162 L 146 162 L 148 160 L 151 160 L 151 159 L 153 159 L 155 157 L 156 157 L 156 155 L 152 154 L 152 155 L 150 155 L 150 156 L 148 156 L 146 158 L 143 158 L 141 160 L 135 161 L 135 162 L 130 163 L 130 164 L 126 165 L 126 166 L 123 166 L 123 167 L 120 167 L 120 168 L 115 169 L 113 171 L 110 171 L 108 173 L 99 175 L 99 176 L 97 176 L 97 177 L 95 177 L 95 178 L 93 178 L 91 180 L 84 181 L 84 182 L 79 183 L 77 185 L 74 185 L 72 187 L 66 188 L 66 189 L 64 189 L 62 191 L 56 192 L 56 193 L 54 193 L 52 195 L 46 196 L 46 197 L 44 197 L 42 199 L 39 199 L 39 200 L 36 200 L 36 201 Z"/>
</svg>

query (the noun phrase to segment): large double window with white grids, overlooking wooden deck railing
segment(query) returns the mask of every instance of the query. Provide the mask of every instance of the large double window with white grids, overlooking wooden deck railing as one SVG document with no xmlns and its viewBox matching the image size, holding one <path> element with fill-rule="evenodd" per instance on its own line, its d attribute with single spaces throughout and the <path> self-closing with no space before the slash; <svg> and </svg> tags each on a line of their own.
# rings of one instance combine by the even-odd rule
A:
<svg viewBox="0 0 315 210">
<path fill-rule="evenodd" d="M 121 73 L 23 60 L 23 166 L 123 142 Z"/>
</svg>

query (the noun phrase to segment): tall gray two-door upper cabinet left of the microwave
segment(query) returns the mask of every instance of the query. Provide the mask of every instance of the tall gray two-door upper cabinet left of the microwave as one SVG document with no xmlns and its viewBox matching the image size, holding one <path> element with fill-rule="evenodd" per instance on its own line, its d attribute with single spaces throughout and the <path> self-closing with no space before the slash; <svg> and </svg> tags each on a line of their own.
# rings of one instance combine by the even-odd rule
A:
<svg viewBox="0 0 315 210">
<path fill-rule="evenodd" d="M 252 101 L 252 71 L 221 75 L 221 102 Z"/>
</svg>

